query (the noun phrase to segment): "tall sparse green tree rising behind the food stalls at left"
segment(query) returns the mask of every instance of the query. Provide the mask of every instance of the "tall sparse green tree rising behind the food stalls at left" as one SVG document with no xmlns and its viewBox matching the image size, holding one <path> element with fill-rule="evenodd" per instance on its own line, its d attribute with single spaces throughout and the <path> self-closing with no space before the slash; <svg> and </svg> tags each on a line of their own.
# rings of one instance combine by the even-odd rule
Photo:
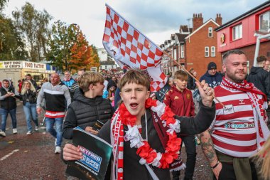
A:
<svg viewBox="0 0 270 180">
<path fill-rule="evenodd" d="M 52 16 L 47 11 L 37 11 L 34 6 L 26 2 L 21 11 L 13 11 L 16 28 L 26 41 L 26 49 L 31 61 L 43 60 L 48 54 L 49 23 Z"/>
</svg>

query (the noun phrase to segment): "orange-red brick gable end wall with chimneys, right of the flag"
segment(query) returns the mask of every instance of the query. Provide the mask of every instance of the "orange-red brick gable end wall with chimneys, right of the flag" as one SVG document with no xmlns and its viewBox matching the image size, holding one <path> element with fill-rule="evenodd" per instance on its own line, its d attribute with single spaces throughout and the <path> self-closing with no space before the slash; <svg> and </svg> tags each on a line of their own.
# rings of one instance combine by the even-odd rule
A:
<svg viewBox="0 0 270 180">
<path fill-rule="evenodd" d="M 217 70 L 222 70 L 221 55 L 217 53 L 217 33 L 215 28 L 222 23 L 222 17 L 217 14 L 215 21 L 210 18 L 203 23 L 202 14 L 193 14 L 193 32 L 185 37 L 185 68 L 194 68 L 198 78 L 202 76 L 211 61 L 217 64 Z"/>
</svg>

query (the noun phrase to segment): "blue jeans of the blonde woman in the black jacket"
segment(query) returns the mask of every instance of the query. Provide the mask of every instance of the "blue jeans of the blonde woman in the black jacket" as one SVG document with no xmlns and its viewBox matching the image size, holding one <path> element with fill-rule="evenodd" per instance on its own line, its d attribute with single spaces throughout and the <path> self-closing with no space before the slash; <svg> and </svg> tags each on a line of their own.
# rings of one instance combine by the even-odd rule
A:
<svg viewBox="0 0 270 180">
<path fill-rule="evenodd" d="M 24 115 L 26 115 L 27 131 L 32 131 L 31 119 L 35 122 L 35 125 L 38 126 L 36 103 L 31 104 L 30 102 L 26 102 L 26 105 L 23 105 L 23 112 Z"/>
</svg>

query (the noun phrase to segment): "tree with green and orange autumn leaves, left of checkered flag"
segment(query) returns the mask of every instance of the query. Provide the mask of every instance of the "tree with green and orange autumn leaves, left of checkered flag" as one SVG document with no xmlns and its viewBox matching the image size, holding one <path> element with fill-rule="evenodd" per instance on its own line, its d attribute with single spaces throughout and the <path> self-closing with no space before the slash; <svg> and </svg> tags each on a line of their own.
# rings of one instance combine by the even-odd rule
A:
<svg viewBox="0 0 270 180">
<path fill-rule="evenodd" d="M 95 46 L 90 46 L 77 24 L 54 23 L 50 38 L 52 64 L 60 70 L 77 71 L 80 68 L 99 68 Z"/>
</svg>

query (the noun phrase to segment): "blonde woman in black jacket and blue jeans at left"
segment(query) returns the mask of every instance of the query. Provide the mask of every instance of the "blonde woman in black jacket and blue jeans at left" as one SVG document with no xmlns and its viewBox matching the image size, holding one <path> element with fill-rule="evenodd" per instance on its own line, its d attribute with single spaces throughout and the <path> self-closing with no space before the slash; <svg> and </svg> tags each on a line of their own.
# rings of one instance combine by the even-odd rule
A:
<svg viewBox="0 0 270 180">
<path fill-rule="evenodd" d="M 21 89 L 21 99 L 23 100 L 23 112 L 26 115 L 27 135 L 32 133 L 31 119 L 35 123 L 35 130 L 38 130 L 38 115 L 36 112 L 36 89 L 31 83 L 31 80 L 23 81 L 23 88 Z"/>
</svg>

